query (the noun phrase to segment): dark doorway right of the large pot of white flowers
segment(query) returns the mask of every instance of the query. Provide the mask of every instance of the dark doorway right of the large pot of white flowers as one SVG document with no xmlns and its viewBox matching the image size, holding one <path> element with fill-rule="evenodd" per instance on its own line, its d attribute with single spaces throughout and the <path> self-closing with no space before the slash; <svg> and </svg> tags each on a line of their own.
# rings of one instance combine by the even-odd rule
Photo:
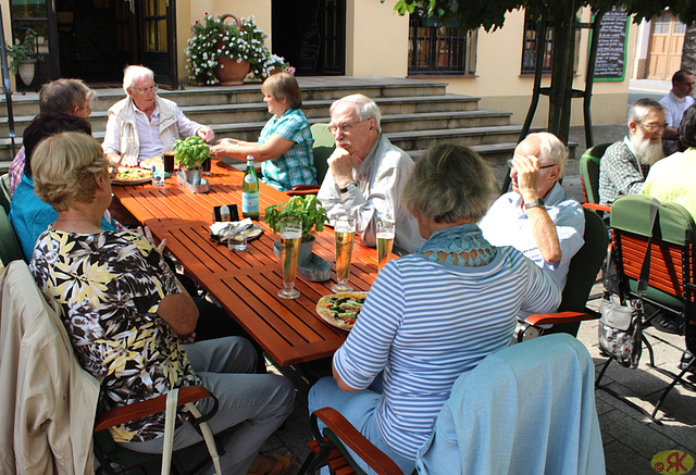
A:
<svg viewBox="0 0 696 475">
<path fill-rule="evenodd" d="M 346 74 L 346 0 L 272 1 L 273 52 L 298 76 Z"/>
</svg>

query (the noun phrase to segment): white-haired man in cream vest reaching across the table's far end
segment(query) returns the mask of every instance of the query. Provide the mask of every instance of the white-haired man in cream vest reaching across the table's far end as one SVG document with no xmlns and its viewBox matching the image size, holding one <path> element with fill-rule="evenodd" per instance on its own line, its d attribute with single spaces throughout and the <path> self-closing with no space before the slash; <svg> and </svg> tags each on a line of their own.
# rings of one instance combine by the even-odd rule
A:
<svg viewBox="0 0 696 475">
<path fill-rule="evenodd" d="M 112 163 L 135 166 L 140 161 L 174 149 L 181 137 L 214 137 L 207 125 L 189 121 L 178 107 L 157 95 L 154 73 L 144 66 L 127 66 L 123 90 L 127 97 L 109 109 L 107 133 L 101 147 Z"/>
</svg>

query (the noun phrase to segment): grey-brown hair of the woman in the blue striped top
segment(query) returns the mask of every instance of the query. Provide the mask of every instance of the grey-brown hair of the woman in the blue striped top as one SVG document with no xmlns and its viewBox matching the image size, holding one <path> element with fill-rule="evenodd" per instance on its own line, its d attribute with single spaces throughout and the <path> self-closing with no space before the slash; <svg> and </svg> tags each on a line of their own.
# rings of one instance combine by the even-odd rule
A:
<svg viewBox="0 0 696 475">
<path fill-rule="evenodd" d="M 469 147 L 436 143 L 415 161 L 401 192 L 412 216 L 436 223 L 478 222 L 498 196 L 490 168 Z"/>
</svg>

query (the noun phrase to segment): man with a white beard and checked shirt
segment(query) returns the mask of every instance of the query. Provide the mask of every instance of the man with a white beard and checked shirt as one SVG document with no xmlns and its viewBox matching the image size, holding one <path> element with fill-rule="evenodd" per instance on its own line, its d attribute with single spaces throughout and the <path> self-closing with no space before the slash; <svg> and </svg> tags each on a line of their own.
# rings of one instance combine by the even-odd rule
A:
<svg viewBox="0 0 696 475">
<path fill-rule="evenodd" d="M 638 99 L 629 110 L 629 135 L 612 143 L 599 162 L 599 202 L 611 204 L 622 195 L 639 193 L 650 165 L 664 157 L 664 108 Z"/>
</svg>

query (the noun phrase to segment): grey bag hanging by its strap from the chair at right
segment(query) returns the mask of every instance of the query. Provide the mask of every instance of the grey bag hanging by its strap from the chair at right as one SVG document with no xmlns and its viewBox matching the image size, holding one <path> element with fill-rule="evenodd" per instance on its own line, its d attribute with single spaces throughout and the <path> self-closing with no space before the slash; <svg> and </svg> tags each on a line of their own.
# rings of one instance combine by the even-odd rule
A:
<svg viewBox="0 0 696 475">
<path fill-rule="evenodd" d="M 607 357 L 617 360 L 619 364 L 631 368 L 638 366 L 643 351 L 643 296 L 647 291 L 650 277 L 650 241 L 659 205 L 656 199 L 650 201 L 650 238 L 641 267 L 636 292 L 638 298 L 635 302 L 624 298 L 621 285 L 617 285 L 617 282 L 612 283 L 610 275 L 613 272 L 613 254 L 611 249 L 607 252 L 605 293 L 599 305 L 601 317 L 597 326 L 599 349 Z"/>
</svg>

